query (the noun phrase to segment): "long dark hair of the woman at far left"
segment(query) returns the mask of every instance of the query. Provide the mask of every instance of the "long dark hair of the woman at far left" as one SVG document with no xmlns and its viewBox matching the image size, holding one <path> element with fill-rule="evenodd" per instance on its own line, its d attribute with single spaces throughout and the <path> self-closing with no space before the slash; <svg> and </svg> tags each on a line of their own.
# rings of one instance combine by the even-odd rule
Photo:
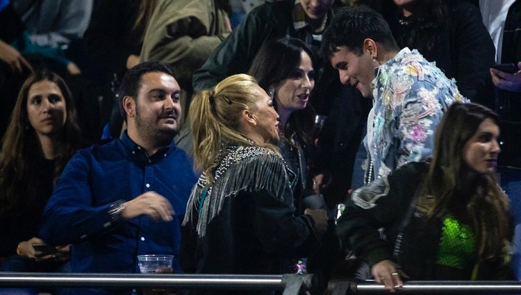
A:
<svg viewBox="0 0 521 295">
<path fill-rule="evenodd" d="M 0 150 L 0 215 L 9 212 L 17 202 L 31 201 L 38 197 L 38 187 L 33 187 L 31 171 L 36 158 L 43 155 L 38 135 L 28 119 L 27 99 L 31 86 L 40 81 L 58 85 L 65 99 L 67 118 L 61 133 L 56 137 L 56 158 L 53 179 L 63 168 L 81 143 L 81 130 L 76 119 L 76 108 L 69 87 L 52 71 L 31 74 L 20 89 L 10 124 L 2 138 Z"/>
</svg>

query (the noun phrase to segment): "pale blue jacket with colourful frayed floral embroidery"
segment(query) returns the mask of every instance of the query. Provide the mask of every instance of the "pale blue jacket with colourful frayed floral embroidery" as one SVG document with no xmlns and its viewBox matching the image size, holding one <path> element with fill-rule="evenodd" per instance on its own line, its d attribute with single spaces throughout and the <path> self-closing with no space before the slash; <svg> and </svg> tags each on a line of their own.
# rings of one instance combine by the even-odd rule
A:
<svg viewBox="0 0 521 295">
<path fill-rule="evenodd" d="M 364 139 L 365 183 L 432 155 L 434 131 L 455 101 L 467 101 L 435 63 L 407 47 L 377 69 Z M 367 181 L 368 180 L 368 181 Z"/>
</svg>

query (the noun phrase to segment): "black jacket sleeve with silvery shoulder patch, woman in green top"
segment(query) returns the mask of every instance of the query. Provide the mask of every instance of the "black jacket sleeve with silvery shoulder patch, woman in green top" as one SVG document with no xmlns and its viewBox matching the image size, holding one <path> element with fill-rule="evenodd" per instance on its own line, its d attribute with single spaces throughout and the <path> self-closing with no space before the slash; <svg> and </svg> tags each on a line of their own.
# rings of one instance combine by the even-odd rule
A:
<svg viewBox="0 0 521 295">
<path fill-rule="evenodd" d="M 420 182 L 422 167 L 422 163 L 410 163 L 389 176 L 377 178 L 356 189 L 345 204 L 337 233 L 347 248 L 366 258 L 371 266 L 381 260 L 392 260 L 393 245 L 381 236 L 379 228 L 392 232 L 404 219 Z"/>
</svg>

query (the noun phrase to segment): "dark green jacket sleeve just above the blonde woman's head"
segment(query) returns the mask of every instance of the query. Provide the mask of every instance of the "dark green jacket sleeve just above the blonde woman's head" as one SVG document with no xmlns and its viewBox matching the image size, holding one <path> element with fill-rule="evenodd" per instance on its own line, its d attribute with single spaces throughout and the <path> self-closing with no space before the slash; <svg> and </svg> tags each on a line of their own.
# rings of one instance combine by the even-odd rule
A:
<svg viewBox="0 0 521 295">
<path fill-rule="evenodd" d="M 204 65 L 195 71 L 192 85 L 196 92 L 215 86 L 227 76 L 248 71 L 263 42 L 276 31 L 264 11 L 269 4 L 251 10 Z"/>
</svg>

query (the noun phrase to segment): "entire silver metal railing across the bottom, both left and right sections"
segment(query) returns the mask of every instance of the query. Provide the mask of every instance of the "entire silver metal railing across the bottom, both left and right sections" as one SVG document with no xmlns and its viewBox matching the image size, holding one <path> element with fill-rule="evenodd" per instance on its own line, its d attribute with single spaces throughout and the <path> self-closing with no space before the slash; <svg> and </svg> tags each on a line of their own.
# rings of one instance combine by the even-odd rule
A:
<svg viewBox="0 0 521 295">
<path fill-rule="evenodd" d="M 311 287 L 313 275 L 194 275 L 142 273 L 0 273 L 0 287 L 60 287 L 105 289 L 266 289 L 297 295 Z M 408 281 L 397 293 L 406 294 L 521 294 L 519 281 Z M 374 281 L 330 282 L 329 294 L 389 294 Z"/>
</svg>

